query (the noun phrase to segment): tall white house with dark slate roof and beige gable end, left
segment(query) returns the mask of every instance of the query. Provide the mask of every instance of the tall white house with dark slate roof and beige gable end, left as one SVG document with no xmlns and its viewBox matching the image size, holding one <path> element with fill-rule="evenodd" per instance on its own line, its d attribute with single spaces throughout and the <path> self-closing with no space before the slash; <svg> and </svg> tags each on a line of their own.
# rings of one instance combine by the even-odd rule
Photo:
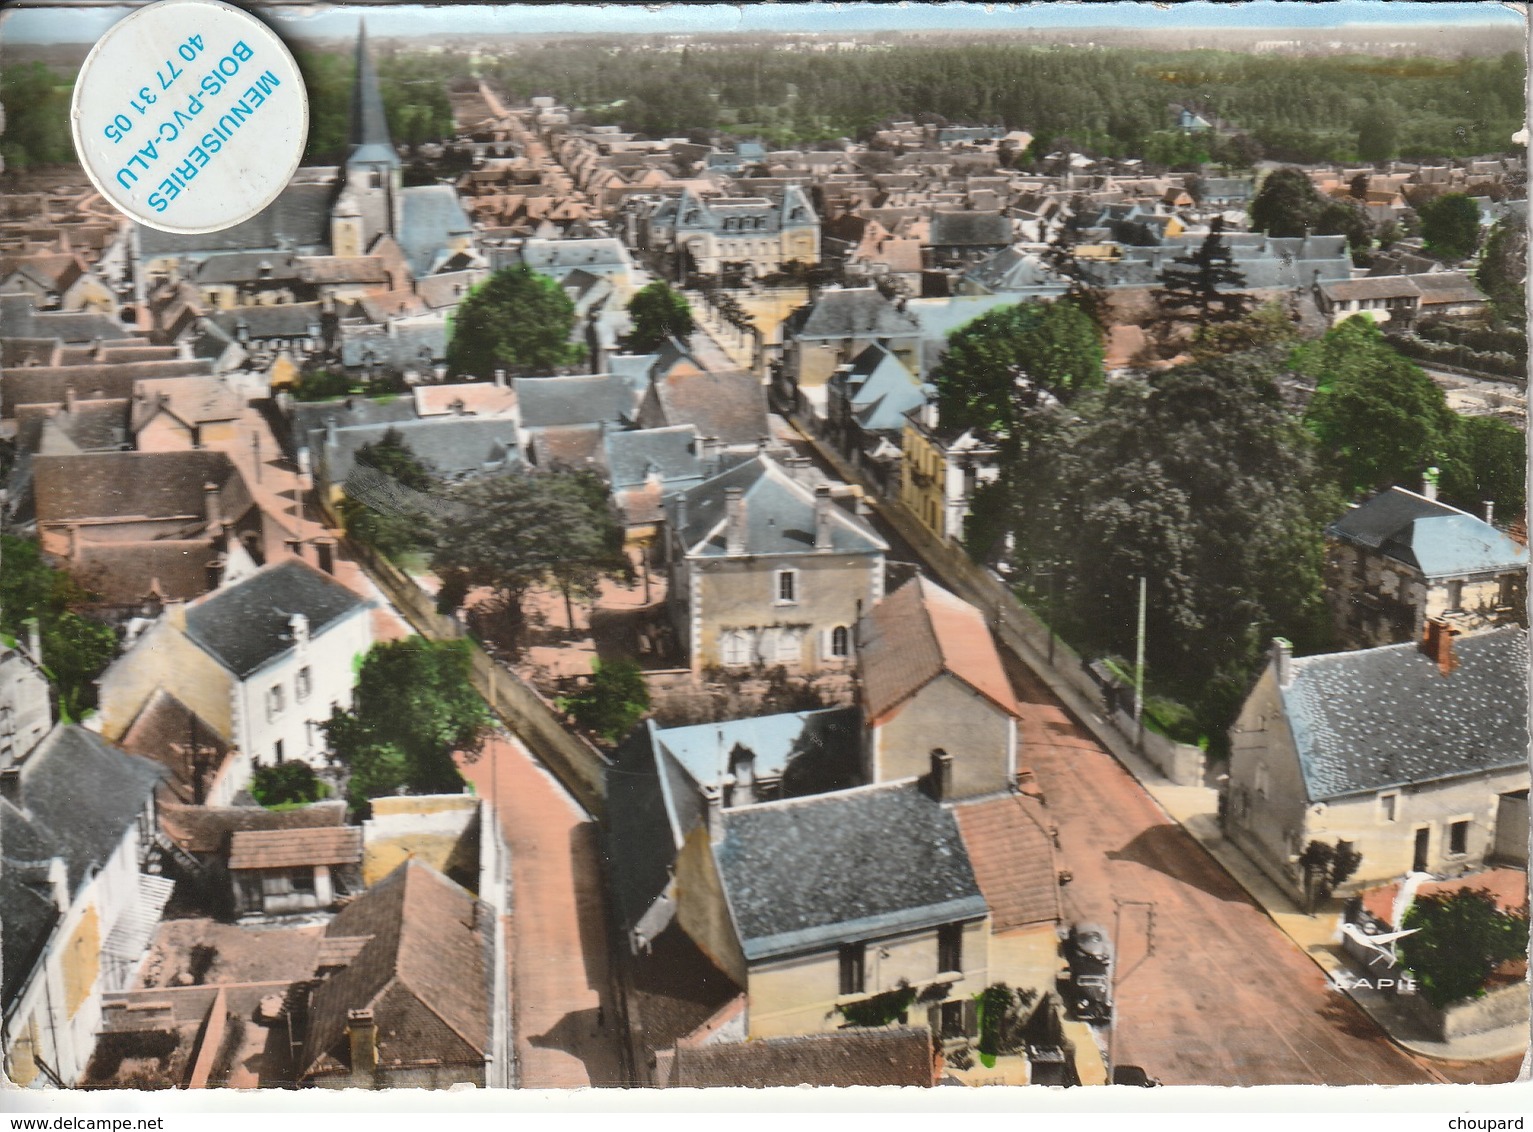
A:
<svg viewBox="0 0 1533 1132">
<path fill-rule="evenodd" d="M 117 739 L 164 689 L 253 765 L 325 762 L 320 724 L 351 706 L 373 646 L 371 604 L 297 558 L 170 606 L 101 676 L 103 733 Z"/>
</svg>

